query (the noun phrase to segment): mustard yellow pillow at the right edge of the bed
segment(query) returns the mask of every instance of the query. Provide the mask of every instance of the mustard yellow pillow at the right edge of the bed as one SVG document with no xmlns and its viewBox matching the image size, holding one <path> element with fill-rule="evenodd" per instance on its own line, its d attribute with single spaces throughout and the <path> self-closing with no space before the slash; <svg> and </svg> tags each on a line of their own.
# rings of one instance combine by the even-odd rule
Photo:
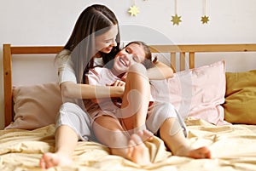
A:
<svg viewBox="0 0 256 171">
<path fill-rule="evenodd" d="M 226 73 L 224 119 L 256 124 L 256 70 Z"/>
</svg>

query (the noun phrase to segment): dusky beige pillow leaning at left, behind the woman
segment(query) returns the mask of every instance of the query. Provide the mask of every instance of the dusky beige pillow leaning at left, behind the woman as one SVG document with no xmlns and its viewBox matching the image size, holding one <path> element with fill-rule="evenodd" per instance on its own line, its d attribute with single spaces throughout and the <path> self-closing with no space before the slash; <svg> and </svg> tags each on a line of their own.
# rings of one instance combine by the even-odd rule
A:
<svg viewBox="0 0 256 171">
<path fill-rule="evenodd" d="M 8 128 L 35 129 L 55 123 L 62 103 L 58 83 L 13 88 L 15 122 Z"/>
</svg>

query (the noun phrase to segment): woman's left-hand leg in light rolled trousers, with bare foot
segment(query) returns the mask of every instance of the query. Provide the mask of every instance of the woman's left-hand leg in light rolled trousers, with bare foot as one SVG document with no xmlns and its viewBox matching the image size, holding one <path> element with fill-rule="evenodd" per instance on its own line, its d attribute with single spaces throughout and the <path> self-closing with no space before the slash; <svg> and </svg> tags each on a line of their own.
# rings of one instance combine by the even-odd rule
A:
<svg viewBox="0 0 256 171">
<path fill-rule="evenodd" d="M 43 155 L 39 162 L 41 168 L 68 165 L 73 162 L 72 154 L 78 140 L 87 140 L 90 136 L 90 118 L 74 103 L 67 102 L 61 105 L 55 124 L 55 152 Z"/>
</svg>

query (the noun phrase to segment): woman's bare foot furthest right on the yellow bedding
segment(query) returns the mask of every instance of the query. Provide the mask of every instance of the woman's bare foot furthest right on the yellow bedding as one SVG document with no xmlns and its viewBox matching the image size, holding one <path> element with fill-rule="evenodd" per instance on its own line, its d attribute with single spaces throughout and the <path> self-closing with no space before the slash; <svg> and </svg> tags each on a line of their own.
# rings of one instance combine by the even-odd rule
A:
<svg viewBox="0 0 256 171">
<path fill-rule="evenodd" d="M 181 157 L 191 157 L 195 159 L 211 158 L 211 151 L 206 146 L 194 150 L 183 147 L 177 151 L 176 155 Z"/>
</svg>

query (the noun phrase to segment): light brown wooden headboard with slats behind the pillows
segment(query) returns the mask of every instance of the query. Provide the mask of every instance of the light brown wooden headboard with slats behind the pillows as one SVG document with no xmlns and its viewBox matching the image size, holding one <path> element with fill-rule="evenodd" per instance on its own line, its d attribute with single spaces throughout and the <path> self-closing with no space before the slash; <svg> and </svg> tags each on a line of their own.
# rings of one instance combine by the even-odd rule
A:
<svg viewBox="0 0 256 171">
<path fill-rule="evenodd" d="M 12 105 L 12 55 L 13 54 L 57 54 L 62 46 L 11 46 L 3 44 L 3 82 L 5 126 L 13 120 Z M 195 67 L 195 54 L 212 52 L 256 51 L 256 44 L 195 44 L 195 45 L 151 45 L 152 53 L 170 53 L 172 68 L 176 71 L 176 56 L 179 54 L 179 69 L 185 69 L 186 54 L 189 55 L 189 68 Z"/>
</svg>

